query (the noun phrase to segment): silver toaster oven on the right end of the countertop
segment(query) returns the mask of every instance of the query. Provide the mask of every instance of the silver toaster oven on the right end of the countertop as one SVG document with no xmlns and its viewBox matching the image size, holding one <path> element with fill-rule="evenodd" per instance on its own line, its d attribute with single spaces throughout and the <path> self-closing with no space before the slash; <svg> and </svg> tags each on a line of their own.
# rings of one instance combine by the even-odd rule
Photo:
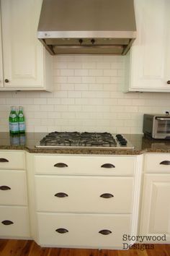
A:
<svg viewBox="0 0 170 256">
<path fill-rule="evenodd" d="M 143 133 L 153 139 L 170 139 L 170 115 L 144 114 Z"/>
</svg>

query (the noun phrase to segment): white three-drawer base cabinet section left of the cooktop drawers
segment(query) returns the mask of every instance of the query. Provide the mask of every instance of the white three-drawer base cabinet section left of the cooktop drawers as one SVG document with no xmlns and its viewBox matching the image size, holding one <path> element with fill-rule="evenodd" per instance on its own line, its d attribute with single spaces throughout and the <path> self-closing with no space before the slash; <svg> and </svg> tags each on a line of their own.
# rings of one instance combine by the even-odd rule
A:
<svg viewBox="0 0 170 256">
<path fill-rule="evenodd" d="M 0 238 L 30 237 L 23 151 L 0 151 Z"/>
</svg>

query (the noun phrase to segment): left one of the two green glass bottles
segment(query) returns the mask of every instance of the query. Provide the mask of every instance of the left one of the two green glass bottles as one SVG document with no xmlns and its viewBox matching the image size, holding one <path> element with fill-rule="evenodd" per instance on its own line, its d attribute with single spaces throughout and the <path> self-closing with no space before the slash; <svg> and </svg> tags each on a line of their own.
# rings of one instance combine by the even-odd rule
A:
<svg viewBox="0 0 170 256">
<path fill-rule="evenodd" d="M 15 106 L 11 107 L 9 115 L 9 132 L 13 135 L 19 133 L 18 117 Z"/>
</svg>

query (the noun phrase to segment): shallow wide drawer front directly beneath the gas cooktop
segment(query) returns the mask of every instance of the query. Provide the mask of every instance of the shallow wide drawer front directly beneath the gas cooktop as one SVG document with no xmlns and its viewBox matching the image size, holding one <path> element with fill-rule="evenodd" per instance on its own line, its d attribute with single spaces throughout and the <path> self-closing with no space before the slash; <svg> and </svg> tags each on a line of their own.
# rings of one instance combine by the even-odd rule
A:
<svg viewBox="0 0 170 256">
<path fill-rule="evenodd" d="M 135 157 L 35 155 L 35 173 L 61 175 L 133 175 Z"/>
</svg>

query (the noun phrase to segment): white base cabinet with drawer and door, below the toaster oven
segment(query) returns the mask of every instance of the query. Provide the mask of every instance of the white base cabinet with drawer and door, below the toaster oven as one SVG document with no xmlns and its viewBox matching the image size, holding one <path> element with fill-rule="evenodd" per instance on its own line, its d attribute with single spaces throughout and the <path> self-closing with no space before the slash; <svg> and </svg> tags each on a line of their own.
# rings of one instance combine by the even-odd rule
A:
<svg viewBox="0 0 170 256">
<path fill-rule="evenodd" d="M 169 160 L 169 154 L 146 155 L 140 234 L 144 236 L 166 235 L 163 238 L 166 240 L 158 241 L 156 239 L 156 241 L 150 241 L 151 243 L 164 244 L 170 242 Z M 151 162 L 153 167 L 151 167 Z M 153 171 L 154 168 L 155 171 Z"/>
</svg>

